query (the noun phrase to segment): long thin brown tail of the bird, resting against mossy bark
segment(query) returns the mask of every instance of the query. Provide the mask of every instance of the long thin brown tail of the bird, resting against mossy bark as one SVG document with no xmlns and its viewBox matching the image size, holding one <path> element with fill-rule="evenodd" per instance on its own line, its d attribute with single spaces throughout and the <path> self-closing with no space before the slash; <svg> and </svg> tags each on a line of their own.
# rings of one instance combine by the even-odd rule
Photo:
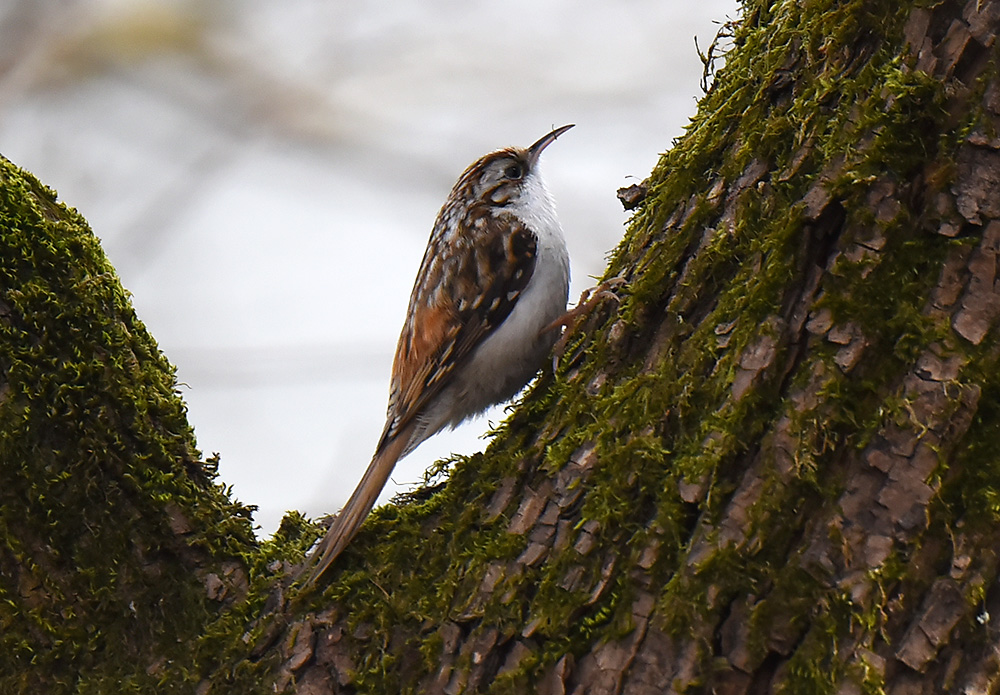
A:
<svg viewBox="0 0 1000 695">
<path fill-rule="evenodd" d="M 406 444 L 409 440 L 406 434 L 408 433 L 403 433 L 404 436 L 394 437 L 375 452 L 372 462 L 368 464 L 368 470 L 365 471 L 361 482 L 351 494 L 351 499 L 347 500 L 347 504 L 333 520 L 326 536 L 313 551 L 309 559 L 309 564 L 313 567 L 309 579 L 306 580 L 306 586 L 315 584 L 354 538 L 354 534 L 361 527 L 368 512 L 375 506 L 375 500 L 378 499 L 382 488 L 385 487 L 392 469 L 396 466 L 396 461 L 406 450 Z"/>
</svg>

